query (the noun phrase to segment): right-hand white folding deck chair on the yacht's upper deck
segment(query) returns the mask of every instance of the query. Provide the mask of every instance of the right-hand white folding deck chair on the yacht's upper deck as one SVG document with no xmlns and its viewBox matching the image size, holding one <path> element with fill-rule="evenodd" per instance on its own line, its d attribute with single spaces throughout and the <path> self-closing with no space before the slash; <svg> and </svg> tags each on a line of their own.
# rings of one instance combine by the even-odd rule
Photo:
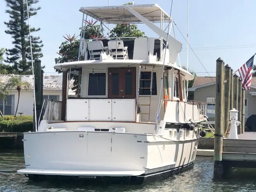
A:
<svg viewBox="0 0 256 192">
<path fill-rule="evenodd" d="M 124 47 L 122 40 L 108 41 L 108 50 L 114 59 L 128 59 L 127 49 L 128 47 Z"/>
</svg>

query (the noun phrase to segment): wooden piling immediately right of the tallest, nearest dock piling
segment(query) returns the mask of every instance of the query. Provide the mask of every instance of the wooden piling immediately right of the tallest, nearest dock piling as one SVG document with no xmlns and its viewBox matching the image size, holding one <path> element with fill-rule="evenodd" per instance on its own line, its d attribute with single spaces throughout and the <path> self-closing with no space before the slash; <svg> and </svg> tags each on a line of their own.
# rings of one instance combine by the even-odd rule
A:
<svg viewBox="0 0 256 192">
<path fill-rule="evenodd" d="M 231 68 L 228 64 L 225 66 L 225 82 L 224 84 L 224 133 L 228 129 L 229 124 L 229 110 L 230 110 L 230 77 L 231 75 Z"/>
</svg>

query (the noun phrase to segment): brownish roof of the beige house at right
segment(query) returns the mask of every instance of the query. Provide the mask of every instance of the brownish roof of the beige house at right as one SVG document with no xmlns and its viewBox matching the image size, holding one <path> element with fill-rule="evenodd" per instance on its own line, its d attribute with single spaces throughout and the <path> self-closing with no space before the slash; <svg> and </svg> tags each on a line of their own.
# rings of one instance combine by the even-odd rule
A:
<svg viewBox="0 0 256 192">
<path fill-rule="evenodd" d="M 213 85 L 216 82 L 216 77 L 195 77 L 193 86 L 188 88 L 188 91 L 195 91 L 195 89 Z M 256 88 L 256 77 L 251 79 L 251 87 Z"/>
</svg>

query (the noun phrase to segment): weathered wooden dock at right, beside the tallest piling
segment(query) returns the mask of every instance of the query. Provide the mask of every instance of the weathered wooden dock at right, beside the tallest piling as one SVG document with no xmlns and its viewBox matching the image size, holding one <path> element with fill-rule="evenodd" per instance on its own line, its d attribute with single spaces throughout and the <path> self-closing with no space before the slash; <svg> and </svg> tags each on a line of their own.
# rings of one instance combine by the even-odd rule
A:
<svg viewBox="0 0 256 192">
<path fill-rule="evenodd" d="M 238 139 L 223 139 L 222 162 L 224 170 L 256 168 L 256 132 L 244 132 Z"/>
</svg>

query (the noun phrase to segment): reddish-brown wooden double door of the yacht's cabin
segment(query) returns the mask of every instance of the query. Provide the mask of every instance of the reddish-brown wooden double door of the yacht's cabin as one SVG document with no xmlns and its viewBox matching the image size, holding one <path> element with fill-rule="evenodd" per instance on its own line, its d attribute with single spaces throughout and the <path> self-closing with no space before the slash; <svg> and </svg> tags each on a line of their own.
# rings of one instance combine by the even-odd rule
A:
<svg viewBox="0 0 256 192">
<path fill-rule="evenodd" d="M 108 68 L 108 98 L 136 98 L 136 68 Z"/>
</svg>

